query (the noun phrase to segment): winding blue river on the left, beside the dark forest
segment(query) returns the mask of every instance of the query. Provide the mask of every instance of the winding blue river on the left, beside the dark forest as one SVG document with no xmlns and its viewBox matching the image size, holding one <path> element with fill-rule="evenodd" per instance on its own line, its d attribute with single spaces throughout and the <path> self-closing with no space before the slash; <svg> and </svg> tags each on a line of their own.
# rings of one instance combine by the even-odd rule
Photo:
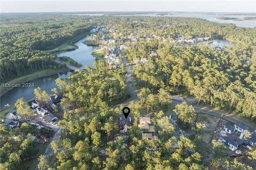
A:
<svg viewBox="0 0 256 170">
<path fill-rule="evenodd" d="M 83 41 L 87 40 L 87 37 L 79 40 L 75 45 L 78 46 L 77 49 L 69 52 L 63 52 L 63 53 L 58 53 L 57 56 L 69 56 L 73 60 L 77 61 L 78 63 L 81 63 L 83 66 L 81 69 L 84 68 L 85 65 L 89 65 L 90 67 L 93 66 L 93 62 L 95 58 L 91 55 L 94 49 L 98 47 L 90 47 L 86 46 L 83 44 Z M 29 81 L 30 83 L 34 83 L 34 87 L 29 87 L 29 88 L 14 88 L 0 98 L 0 109 L 2 110 L 5 108 L 4 105 L 9 103 L 10 105 L 13 105 L 17 99 L 23 97 L 25 99 L 31 99 L 34 98 L 34 89 L 37 87 L 40 87 L 41 89 L 47 91 L 47 93 L 52 93 L 51 89 L 57 88 L 57 85 L 55 84 L 55 80 L 57 78 L 62 78 L 65 79 L 67 78 L 71 72 L 66 72 L 66 73 L 58 73 L 58 74 L 53 74 L 44 78 L 38 78 L 33 81 Z"/>
</svg>

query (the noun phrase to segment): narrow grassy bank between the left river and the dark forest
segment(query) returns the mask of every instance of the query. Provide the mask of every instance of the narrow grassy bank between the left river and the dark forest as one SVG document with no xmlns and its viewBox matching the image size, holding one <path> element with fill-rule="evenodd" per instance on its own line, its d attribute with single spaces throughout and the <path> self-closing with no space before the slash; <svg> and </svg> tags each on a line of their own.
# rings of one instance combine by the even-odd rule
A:
<svg viewBox="0 0 256 170">
<path fill-rule="evenodd" d="M 42 77 L 46 77 L 48 75 L 52 75 L 52 74 L 56 74 L 56 73 L 60 73 L 60 72 L 66 72 L 68 71 L 69 69 L 68 68 L 62 68 L 62 69 L 45 69 L 45 70 L 41 70 L 41 71 L 36 71 L 34 73 L 31 73 L 31 74 L 27 74 L 27 75 L 23 75 L 22 77 L 18 77 L 18 78 L 15 78 L 15 79 L 12 79 L 10 81 L 7 81 L 6 83 L 25 83 L 25 82 L 28 82 L 28 81 L 31 81 L 31 80 L 34 80 L 34 79 L 37 79 L 37 78 L 42 78 Z M 10 87 L 10 88 L 5 88 L 5 87 L 1 87 L 0 88 L 0 95 L 4 95 L 7 91 L 13 89 L 13 87 Z"/>
</svg>

